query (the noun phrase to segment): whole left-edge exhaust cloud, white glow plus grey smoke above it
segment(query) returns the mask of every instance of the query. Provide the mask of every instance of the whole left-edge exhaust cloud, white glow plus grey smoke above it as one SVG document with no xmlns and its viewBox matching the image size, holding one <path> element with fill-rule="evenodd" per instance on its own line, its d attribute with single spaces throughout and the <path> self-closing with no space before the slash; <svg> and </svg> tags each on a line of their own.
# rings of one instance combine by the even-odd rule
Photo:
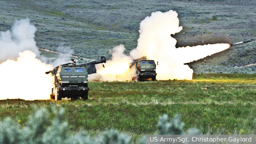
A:
<svg viewBox="0 0 256 144">
<path fill-rule="evenodd" d="M 12 32 L 0 32 L 0 99 L 49 99 L 53 69 L 35 45 L 35 26 L 29 19 L 16 20 Z M 39 60 L 36 57 L 40 57 Z"/>
</svg>

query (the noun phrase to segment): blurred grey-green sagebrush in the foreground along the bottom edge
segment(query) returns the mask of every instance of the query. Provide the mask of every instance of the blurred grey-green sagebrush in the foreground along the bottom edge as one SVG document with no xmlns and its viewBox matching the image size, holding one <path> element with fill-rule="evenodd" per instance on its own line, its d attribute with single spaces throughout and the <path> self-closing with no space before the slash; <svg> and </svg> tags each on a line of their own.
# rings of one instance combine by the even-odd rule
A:
<svg viewBox="0 0 256 144">
<path fill-rule="evenodd" d="M 57 111 L 53 108 L 53 111 L 56 116 L 51 125 L 49 125 L 49 114 L 44 108 L 37 112 L 34 110 L 29 116 L 26 127 L 23 128 L 11 118 L 6 118 L 5 121 L 0 122 L 0 144 L 131 144 L 130 136 L 120 134 L 117 130 L 105 131 L 95 138 L 90 138 L 84 130 L 69 135 L 67 122 L 62 121 L 64 109 Z M 158 134 L 200 134 L 197 129 L 184 132 L 184 123 L 180 120 L 180 115 L 175 115 L 171 121 L 172 123 L 168 122 L 167 115 L 160 116 Z M 145 136 L 140 138 L 138 143 L 145 144 Z"/>
</svg>

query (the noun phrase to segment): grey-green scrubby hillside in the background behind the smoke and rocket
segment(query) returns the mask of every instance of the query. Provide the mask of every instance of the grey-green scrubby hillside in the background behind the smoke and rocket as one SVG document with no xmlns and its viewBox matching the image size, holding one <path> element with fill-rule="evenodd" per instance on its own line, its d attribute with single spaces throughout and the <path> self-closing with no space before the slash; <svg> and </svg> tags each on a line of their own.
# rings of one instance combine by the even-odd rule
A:
<svg viewBox="0 0 256 144">
<path fill-rule="evenodd" d="M 57 51 L 64 45 L 77 56 L 109 59 L 114 46 L 124 44 L 125 54 L 136 48 L 140 21 L 152 12 L 178 13 L 183 30 L 173 37 L 182 47 L 256 37 L 255 6 L 250 0 L 1 0 L 0 31 L 28 17 L 38 29 L 38 48 Z M 233 46 L 189 66 L 195 73 L 254 73 L 254 66 L 235 66 L 256 63 L 255 49 L 255 42 Z"/>
</svg>

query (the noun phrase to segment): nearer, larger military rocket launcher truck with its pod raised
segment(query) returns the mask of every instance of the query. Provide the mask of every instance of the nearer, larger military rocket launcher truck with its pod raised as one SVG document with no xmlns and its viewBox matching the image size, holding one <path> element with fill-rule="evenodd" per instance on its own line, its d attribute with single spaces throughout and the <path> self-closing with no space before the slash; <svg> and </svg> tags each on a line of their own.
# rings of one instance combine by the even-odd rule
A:
<svg viewBox="0 0 256 144">
<path fill-rule="evenodd" d="M 53 85 L 50 94 L 54 96 L 55 101 L 62 98 L 71 98 L 76 100 L 79 97 L 88 99 L 89 87 L 87 84 L 88 75 L 96 73 L 95 65 L 106 63 L 106 57 L 102 56 L 100 60 L 95 60 L 83 64 L 76 64 L 78 60 L 71 59 L 71 63 L 56 66 L 53 70 L 45 72 L 52 73 L 54 76 Z"/>
</svg>

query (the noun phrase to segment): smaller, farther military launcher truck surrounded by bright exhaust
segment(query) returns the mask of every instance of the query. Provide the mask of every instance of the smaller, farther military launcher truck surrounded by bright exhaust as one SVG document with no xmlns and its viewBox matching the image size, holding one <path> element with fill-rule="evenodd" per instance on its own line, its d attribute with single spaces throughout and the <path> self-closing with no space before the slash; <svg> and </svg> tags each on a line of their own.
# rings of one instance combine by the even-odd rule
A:
<svg viewBox="0 0 256 144">
<path fill-rule="evenodd" d="M 156 66 L 154 60 L 147 60 L 147 57 L 138 58 L 133 61 L 132 66 L 136 67 L 137 81 L 141 81 L 141 79 L 149 79 L 152 81 L 156 80 Z"/>
</svg>

